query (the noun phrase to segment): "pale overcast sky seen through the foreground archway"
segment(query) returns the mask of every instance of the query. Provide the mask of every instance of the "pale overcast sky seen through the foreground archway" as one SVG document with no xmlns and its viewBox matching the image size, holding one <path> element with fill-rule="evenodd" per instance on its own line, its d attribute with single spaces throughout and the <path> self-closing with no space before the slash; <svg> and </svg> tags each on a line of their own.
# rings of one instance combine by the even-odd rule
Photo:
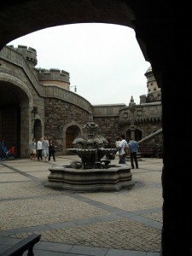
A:
<svg viewBox="0 0 192 256">
<path fill-rule="evenodd" d="M 150 63 L 130 27 L 96 23 L 55 26 L 10 44 L 36 49 L 36 67 L 67 71 L 70 85 L 76 85 L 76 93 L 92 105 L 128 105 L 131 96 L 139 104 L 139 96 L 148 93 L 144 73 Z"/>
</svg>

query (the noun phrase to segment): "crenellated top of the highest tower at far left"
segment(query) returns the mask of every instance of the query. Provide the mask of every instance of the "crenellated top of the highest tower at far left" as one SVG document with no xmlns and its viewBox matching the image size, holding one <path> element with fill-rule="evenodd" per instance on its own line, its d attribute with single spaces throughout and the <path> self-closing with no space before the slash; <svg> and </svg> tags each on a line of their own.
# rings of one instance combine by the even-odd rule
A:
<svg viewBox="0 0 192 256">
<path fill-rule="evenodd" d="M 21 55 L 24 56 L 26 61 L 32 66 L 35 67 L 38 64 L 37 59 L 37 50 L 32 47 L 27 47 L 26 45 L 18 45 L 18 47 L 14 47 L 14 45 L 8 45 L 10 48 L 15 49 Z"/>
</svg>

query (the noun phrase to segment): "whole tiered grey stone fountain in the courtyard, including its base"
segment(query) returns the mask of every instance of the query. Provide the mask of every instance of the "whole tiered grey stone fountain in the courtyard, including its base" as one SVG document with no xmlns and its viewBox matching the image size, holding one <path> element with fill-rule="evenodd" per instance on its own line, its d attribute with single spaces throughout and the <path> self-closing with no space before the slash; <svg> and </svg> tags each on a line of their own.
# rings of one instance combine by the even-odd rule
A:
<svg viewBox="0 0 192 256">
<path fill-rule="evenodd" d="M 131 166 L 112 165 L 104 158 L 115 154 L 116 148 L 108 148 L 108 140 L 102 136 L 98 125 L 89 122 L 84 125 L 82 137 L 76 137 L 73 148 L 68 152 L 78 154 L 81 160 L 73 161 L 67 166 L 49 168 L 46 187 L 67 189 L 76 192 L 119 191 L 131 188 Z"/>
</svg>

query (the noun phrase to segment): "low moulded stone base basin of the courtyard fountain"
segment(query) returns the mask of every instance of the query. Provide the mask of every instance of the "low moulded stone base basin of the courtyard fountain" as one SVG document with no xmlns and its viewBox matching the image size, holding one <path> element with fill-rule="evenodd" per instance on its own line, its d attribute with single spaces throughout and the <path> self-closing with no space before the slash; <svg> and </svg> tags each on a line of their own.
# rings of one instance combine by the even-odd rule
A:
<svg viewBox="0 0 192 256">
<path fill-rule="evenodd" d="M 44 186 L 75 192 L 119 191 L 129 189 L 132 181 L 131 166 L 113 165 L 108 169 L 75 169 L 72 166 L 49 168 L 48 182 Z"/>
</svg>

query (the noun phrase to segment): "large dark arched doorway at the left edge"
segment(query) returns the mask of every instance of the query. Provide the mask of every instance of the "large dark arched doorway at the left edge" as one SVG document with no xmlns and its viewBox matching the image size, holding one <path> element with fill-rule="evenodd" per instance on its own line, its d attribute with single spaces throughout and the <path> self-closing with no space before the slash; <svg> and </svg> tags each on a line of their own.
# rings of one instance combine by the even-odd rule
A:
<svg viewBox="0 0 192 256">
<path fill-rule="evenodd" d="M 15 147 L 15 157 L 21 157 L 21 145 L 26 143 L 28 136 L 20 137 L 21 131 L 28 130 L 29 99 L 25 91 L 15 84 L 0 81 L 0 139 L 7 148 Z"/>
</svg>

